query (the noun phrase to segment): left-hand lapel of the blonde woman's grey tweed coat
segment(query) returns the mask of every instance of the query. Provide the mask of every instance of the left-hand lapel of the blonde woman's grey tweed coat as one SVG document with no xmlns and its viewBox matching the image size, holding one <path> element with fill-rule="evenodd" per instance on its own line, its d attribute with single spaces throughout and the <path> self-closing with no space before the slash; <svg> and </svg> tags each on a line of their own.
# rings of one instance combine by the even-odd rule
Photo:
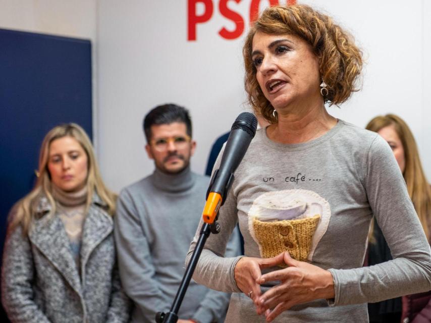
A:
<svg viewBox="0 0 431 323">
<path fill-rule="evenodd" d="M 39 210 L 48 212 L 50 205 L 45 198 L 39 204 Z M 63 222 L 56 215 L 41 217 L 34 223 L 29 233 L 30 241 L 57 268 L 72 288 L 82 296 L 81 282 L 78 269 L 70 250 Z"/>
</svg>

